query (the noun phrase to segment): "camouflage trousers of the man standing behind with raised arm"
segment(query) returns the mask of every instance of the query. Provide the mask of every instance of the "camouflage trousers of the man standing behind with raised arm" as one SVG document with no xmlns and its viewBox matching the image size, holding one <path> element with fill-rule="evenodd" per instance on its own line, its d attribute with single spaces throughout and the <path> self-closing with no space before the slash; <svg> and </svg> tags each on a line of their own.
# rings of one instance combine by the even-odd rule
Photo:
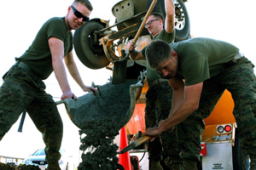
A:
<svg viewBox="0 0 256 170">
<path fill-rule="evenodd" d="M 172 108 L 172 87 L 167 81 L 160 82 L 148 88 L 146 99 L 146 128 L 154 127 L 169 116 Z M 153 142 L 148 142 L 148 159 L 151 161 L 160 161 L 163 156 L 178 156 L 179 152 L 175 130 L 172 133 L 166 131 Z"/>
</svg>

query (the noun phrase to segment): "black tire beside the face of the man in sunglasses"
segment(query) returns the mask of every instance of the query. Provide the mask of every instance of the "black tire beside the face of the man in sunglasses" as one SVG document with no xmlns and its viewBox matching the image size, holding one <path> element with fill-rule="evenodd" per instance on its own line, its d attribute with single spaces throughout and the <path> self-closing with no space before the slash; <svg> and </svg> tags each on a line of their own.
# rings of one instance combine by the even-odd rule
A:
<svg viewBox="0 0 256 170">
<path fill-rule="evenodd" d="M 87 21 L 74 32 L 73 45 L 80 61 L 90 69 L 101 69 L 109 65 L 102 45 L 99 45 L 101 37 L 94 37 L 94 31 L 102 30 L 104 26 L 96 21 Z"/>
</svg>

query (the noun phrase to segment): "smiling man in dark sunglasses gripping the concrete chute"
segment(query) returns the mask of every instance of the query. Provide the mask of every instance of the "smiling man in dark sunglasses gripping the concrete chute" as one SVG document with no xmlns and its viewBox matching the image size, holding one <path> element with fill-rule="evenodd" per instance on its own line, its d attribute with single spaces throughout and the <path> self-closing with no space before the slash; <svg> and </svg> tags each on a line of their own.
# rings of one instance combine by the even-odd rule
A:
<svg viewBox="0 0 256 170">
<path fill-rule="evenodd" d="M 54 72 L 59 82 L 61 99 L 78 99 L 67 81 L 67 70 L 84 92 L 97 89 L 85 86 L 74 62 L 72 30 L 89 20 L 92 6 L 88 0 L 75 0 L 65 17 L 47 20 L 32 45 L 3 76 L 0 88 L 0 140 L 26 111 L 43 134 L 48 170 L 60 169 L 58 161 L 63 133 L 61 116 L 54 99 L 46 94 L 43 80 Z M 65 62 L 64 62 L 65 61 Z"/>
</svg>

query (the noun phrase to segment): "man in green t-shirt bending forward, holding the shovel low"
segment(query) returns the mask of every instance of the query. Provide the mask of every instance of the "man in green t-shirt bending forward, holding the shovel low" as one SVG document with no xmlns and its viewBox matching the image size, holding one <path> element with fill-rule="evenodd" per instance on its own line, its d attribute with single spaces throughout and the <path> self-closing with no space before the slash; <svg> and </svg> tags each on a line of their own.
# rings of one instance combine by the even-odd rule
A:
<svg viewBox="0 0 256 170">
<path fill-rule="evenodd" d="M 144 135 L 157 137 L 176 126 L 181 169 L 197 169 L 203 119 L 227 89 L 235 102 L 233 114 L 241 133 L 241 149 L 251 157 L 250 169 L 256 169 L 256 78 L 251 61 L 228 42 L 201 37 L 172 44 L 151 42 L 146 58 L 148 65 L 172 85 L 173 103 L 168 118 L 159 127 L 148 128 Z"/>
</svg>

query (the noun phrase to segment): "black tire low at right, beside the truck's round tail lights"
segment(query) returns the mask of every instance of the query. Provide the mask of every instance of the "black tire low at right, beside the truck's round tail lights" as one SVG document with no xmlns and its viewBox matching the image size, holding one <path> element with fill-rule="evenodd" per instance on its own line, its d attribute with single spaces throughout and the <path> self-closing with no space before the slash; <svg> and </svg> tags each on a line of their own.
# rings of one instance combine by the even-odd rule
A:
<svg viewBox="0 0 256 170">
<path fill-rule="evenodd" d="M 244 170 L 246 169 L 246 162 L 248 157 L 244 156 L 241 151 L 241 136 L 236 130 L 236 140 L 235 145 L 232 147 L 232 157 L 233 157 L 233 170 Z"/>
</svg>

